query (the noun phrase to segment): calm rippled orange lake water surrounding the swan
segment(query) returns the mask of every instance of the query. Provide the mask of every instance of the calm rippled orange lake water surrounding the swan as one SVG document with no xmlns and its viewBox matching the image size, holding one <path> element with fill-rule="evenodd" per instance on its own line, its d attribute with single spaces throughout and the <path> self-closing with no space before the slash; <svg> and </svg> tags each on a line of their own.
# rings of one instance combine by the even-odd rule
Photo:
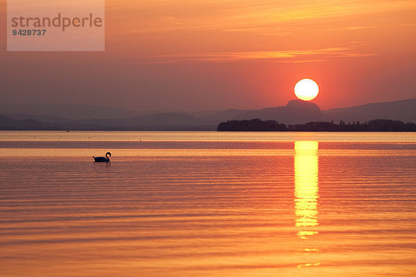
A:
<svg viewBox="0 0 416 277">
<path fill-rule="evenodd" d="M 0 151 L 0 276 L 416 276 L 416 134 L 0 132 Z"/>
</svg>

